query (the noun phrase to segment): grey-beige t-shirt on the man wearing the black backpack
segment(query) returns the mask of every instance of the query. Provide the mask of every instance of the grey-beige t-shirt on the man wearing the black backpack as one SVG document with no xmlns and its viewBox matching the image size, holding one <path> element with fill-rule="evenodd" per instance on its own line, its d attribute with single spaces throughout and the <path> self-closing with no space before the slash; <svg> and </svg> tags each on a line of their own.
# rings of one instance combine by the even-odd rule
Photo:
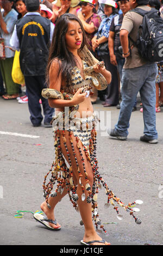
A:
<svg viewBox="0 0 163 256">
<path fill-rule="evenodd" d="M 140 5 L 137 7 L 147 11 L 151 10 L 151 7 L 148 7 L 147 5 Z M 123 17 L 121 29 L 126 29 L 129 32 L 131 39 L 133 39 L 133 41 L 135 42 L 137 39 L 139 26 L 141 25 L 142 20 L 143 20 L 143 16 L 141 16 L 140 14 L 134 13 L 134 11 L 128 11 Z M 130 45 L 132 45 L 133 42 L 131 40 L 129 41 L 130 41 L 129 42 Z M 124 63 L 123 68 L 133 69 L 148 63 L 149 62 L 147 62 L 147 60 L 143 59 L 140 56 L 137 47 L 134 46 L 133 49 L 131 50 L 131 56 L 126 58 L 126 62 Z"/>
</svg>

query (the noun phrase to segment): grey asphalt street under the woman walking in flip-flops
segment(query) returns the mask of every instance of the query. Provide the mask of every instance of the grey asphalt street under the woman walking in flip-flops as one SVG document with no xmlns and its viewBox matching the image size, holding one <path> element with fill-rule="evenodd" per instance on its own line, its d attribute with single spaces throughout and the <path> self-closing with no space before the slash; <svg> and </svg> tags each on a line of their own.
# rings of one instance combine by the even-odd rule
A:
<svg viewBox="0 0 163 256">
<path fill-rule="evenodd" d="M 119 110 L 104 108 L 100 101 L 93 107 L 101 119 L 97 157 L 104 181 L 122 202 L 143 201 L 136 206 L 140 212 L 135 213 L 141 225 L 123 209 L 120 221 L 112 206 L 104 208 L 107 198 L 102 189 L 98 194 L 99 216 L 108 224 L 104 224 L 107 234 L 101 236 L 111 245 L 163 245 L 163 108 L 156 113 L 159 143 L 152 145 L 139 139 L 143 135 L 139 103 L 131 114 L 127 141 L 111 139 L 102 131 L 104 125 L 114 127 Z M 52 129 L 33 127 L 27 104 L 1 97 L 0 109 L 0 245 L 80 245 L 84 227 L 68 197 L 55 210 L 60 231 L 49 231 L 33 218 L 32 212 L 40 211 L 43 179 L 54 159 Z M 16 218 L 17 211 L 30 212 Z"/>
</svg>

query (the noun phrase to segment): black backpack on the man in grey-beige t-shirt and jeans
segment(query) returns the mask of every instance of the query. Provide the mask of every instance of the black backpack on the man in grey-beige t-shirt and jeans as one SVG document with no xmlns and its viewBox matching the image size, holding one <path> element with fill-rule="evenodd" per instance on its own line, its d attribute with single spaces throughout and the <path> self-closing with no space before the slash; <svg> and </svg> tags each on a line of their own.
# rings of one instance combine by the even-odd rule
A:
<svg viewBox="0 0 163 256">
<path fill-rule="evenodd" d="M 145 11 L 140 8 L 133 10 L 143 16 L 142 24 L 139 27 L 137 41 L 131 41 L 139 50 L 140 55 L 149 62 L 160 62 L 163 60 L 163 19 L 160 12 L 154 8 Z"/>
</svg>

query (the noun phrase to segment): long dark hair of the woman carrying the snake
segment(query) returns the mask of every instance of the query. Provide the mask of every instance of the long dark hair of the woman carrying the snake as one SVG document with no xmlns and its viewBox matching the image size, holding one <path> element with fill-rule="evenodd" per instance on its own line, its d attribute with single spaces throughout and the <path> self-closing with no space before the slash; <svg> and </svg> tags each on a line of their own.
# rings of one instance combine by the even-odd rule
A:
<svg viewBox="0 0 163 256">
<path fill-rule="evenodd" d="M 83 32 L 83 42 L 80 47 L 80 50 L 83 49 L 84 45 L 86 45 L 86 36 L 84 32 L 84 28 L 82 22 L 78 19 L 77 16 L 73 14 L 63 14 L 59 17 L 56 22 L 54 34 L 52 38 L 52 43 L 49 48 L 49 56 L 48 56 L 48 65 L 47 65 L 47 86 L 49 86 L 49 77 L 48 72 L 52 61 L 55 58 L 59 60 L 59 74 L 61 72 L 62 77 L 65 78 L 67 85 L 71 82 L 71 69 L 73 66 L 76 66 L 74 55 L 68 51 L 65 41 L 65 35 L 67 33 L 68 24 L 70 21 L 77 21 L 82 28 Z M 58 75 L 59 75 L 58 74 Z"/>
</svg>

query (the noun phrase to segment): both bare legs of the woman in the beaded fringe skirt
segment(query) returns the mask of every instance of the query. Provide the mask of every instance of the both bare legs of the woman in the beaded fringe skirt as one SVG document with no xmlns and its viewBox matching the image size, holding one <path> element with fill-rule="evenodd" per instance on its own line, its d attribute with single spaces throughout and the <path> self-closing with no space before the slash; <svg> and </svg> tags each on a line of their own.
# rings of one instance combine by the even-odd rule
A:
<svg viewBox="0 0 163 256">
<path fill-rule="evenodd" d="M 62 154 L 65 156 L 65 159 L 69 163 L 67 151 L 66 151 L 65 144 L 64 144 L 65 139 L 62 138 L 62 131 L 60 131 L 59 133 L 60 133 L 61 151 L 62 151 Z M 76 164 L 74 153 L 76 154 L 76 159 L 78 161 L 80 173 L 83 175 L 82 184 L 83 184 L 84 188 L 86 185 L 86 181 L 85 181 L 85 174 L 84 174 L 84 169 L 83 169 L 83 162 L 81 160 L 82 156 L 80 155 L 81 152 L 79 152 L 79 149 L 77 147 L 76 137 L 72 136 L 72 141 L 73 141 L 73 150 L 72 150 L 72 145 L 70 142 L 70 133 L 68 131 L 65 131 L 64 133 L 65 133 L 64 136 L 66 138 L 66 147 L 68 149 L 68 153 L 70 154 L 70 159 L 71 159 L 74 185 L 78 185 L 76 193 L 78 194 L 79 198 L 78 198 L 77 204 L 78 204 L 79 212 L 82 217 L 82 221 L 84 223 L 84 228 L 85 228 L 83 240 L 85 242 L 92 241 L 92 240 L 102 240 L 102 238 L 96 233 L 95 226 L 93 225 L 93 222 L 92 222 L 92 205 L 91 205 L 91 203 L 90 204 L 87 203 L 86 199 L 84 201 L 82 201 L 83 191 L 79 184 L 79 173 L 78 173 L 78 167 Z M 79 141 L 79 144 L 80 144 L 80 150 L 82 150 L 82 155 L 83 155 L 83 159 L 84 159 L 84 163 L 85 163 L 87 179 L 89 179 L 89 184 L 92 188 L 92 185 L 93 185 L 92 167 L 91 167 L 90 162 L 87 160 L 87 157 L 83 150 L 82 142 Z M 85 198 L 87 198 L 87 196 L 89 196 L 89 193 L 86 190 L 84 190 L 84 193 L 85 193 Z M 64 188 L 64 192 L 62 192 L 62 194 L 57 192 L 56 197 L 49 197 L 48 203 L 49 203 L 49 205 L 51 205 L 51 209 L 48 208 L 46 202 L 43 202 L 41 204 L 41 209 L 46 214 L 47 218 L 54 220 L 55 206 L 58 204 L 58 202 L 61 200 L 61 198 L 63 198 L 66 194 L 67 194 L 67 190 L 66 190 L 66 188 Z M 53 227 L 53 228 L 60 227 L 60 225 L 58 223 L 57 223 L 57 225 L 49 223 L 49 225 L 51 225 L 51 227 Z M 103 244 L 102 243 L 93 243 L 93 245 L 103 245 Z M 110 243 L 105 243 L 105 245 L 110 245 Z"/>
</svg>

